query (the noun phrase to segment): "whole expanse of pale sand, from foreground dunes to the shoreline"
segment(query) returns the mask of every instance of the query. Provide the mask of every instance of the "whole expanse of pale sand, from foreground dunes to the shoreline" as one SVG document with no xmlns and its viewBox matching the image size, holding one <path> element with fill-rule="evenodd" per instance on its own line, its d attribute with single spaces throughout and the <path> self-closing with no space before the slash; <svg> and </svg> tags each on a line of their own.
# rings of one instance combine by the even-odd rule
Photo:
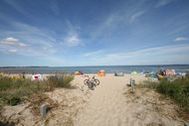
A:
<svg viewBox="0 0 189 126">
<path fill-rule="evenodd" d="M 90 77 L 95 74 L 89 74 Z M 96 76 L 96 75 L 95 75 Z M 130 78 L 140 85 L 147 78 L 142 75 L 125 74 L 114 76 L 106 74 L 98 77 L 100 85 L 90 90 L 83 84 L 86 77 L 77 75 L 71 82 L 74 88 L 57 88 L 46 95 L 55 107 L 45 119 L 35 116 L 28 103 L 5 106 L 2 115 L 17 120 L 17 125 L 31 126 L 179 126 L 183 120 L 177 112 L 178 107 L 161 95 L 144 89 L 131 93 L 128 86 Z"/>
</svg>

